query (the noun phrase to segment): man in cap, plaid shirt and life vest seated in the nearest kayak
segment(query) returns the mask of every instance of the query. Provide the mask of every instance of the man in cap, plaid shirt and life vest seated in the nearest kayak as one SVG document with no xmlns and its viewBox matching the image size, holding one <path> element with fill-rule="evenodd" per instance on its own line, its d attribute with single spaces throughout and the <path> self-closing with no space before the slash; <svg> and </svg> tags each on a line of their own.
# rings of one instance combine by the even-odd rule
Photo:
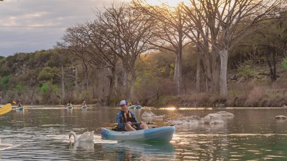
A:
<svg viewBox="0 0 287 161">
<path fill-rule="evenodd" d="M 146 123 L 141 121 L 141 123 L 138 123 L 138 120 L 136 118 L 136 115 L 133 112 L 130 112 L 128 110 L 128 101 L 123 100 L 120 102 L 120 106 L 122 110 L 116 114 L 116 122 L 117 123 L 127 123 L 117 125 L 117 128 L 119 131 L 136 131 L 136 130 L 142 130 L 142 129 L 148 129 Z M 132 124 L 137 122 L 137 124 Z"/>
</svg>

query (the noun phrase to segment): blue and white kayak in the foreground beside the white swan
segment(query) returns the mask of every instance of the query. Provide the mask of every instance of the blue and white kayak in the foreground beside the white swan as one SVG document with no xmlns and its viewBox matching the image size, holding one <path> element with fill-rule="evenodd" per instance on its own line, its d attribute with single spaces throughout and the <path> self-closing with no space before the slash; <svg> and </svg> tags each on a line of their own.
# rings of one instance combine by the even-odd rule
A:
<svg viewBox="0 0 287 161">
<path fill-rule="evenodd" d="M 175 126 L 171 125 L 132 132 L 116 132 L 103 128 L 101 136 L 106 140 L 170 142 L 174 133 Z"/>
</svg>

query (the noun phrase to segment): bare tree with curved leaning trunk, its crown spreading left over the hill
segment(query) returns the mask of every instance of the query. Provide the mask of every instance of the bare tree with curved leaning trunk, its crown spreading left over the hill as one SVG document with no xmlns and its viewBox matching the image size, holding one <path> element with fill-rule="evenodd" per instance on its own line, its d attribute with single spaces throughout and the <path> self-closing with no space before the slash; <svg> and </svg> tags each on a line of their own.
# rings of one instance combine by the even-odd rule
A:
<svg viewBox="0 0 287 161">
<path fill-rule="evenodd" d="M 110 86 L 105 99 L 105 104 L 108 104 L 114 85 L 116 56 L 101 41 L 103 34 L 98 27 L 96 23 L 87 22 L 84 25 L 68 28 L 61 46 L 89 64 L 93 64 L 97 69 L 109 69 L 111 74 L 107 77 L 110 80 Z"/>
</svg>

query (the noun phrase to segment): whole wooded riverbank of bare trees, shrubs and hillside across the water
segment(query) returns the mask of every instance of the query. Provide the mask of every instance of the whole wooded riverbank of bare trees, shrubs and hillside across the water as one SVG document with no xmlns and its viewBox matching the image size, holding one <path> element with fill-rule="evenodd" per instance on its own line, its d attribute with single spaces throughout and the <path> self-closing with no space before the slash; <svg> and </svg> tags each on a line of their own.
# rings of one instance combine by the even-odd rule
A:
<svg viewBox="0 0 287 161">
<path fill-rule="evenodd" d="M 200 1 L 113 4 L 54 49 L 0 57 L 1 103 L 287 104 L 286 2 Z"/>
</svg>

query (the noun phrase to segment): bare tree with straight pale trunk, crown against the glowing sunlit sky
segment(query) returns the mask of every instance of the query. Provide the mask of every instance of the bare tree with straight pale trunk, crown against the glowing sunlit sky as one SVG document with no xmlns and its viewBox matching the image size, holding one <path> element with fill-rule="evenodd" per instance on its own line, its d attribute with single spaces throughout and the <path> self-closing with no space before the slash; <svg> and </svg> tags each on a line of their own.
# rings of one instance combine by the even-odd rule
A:
<svg viewBox="0 0 287 161">
<path fill-rule="evenodd" d="M 157 41 L 149 41 L 156 49 L 162 52 L 175 53 L 175 73 L 174 84 L 177 95 L 181 94 L 182 84 L 182 49 L 190 42 L 186 41 L 185 18 L 179 6 L 171 7 L 165 3 L 159 6 L 151 6 L 146 0 L 134 0 L 133 4 L 143 13 L 157 19 L 157 28 L 154 30 L 154 35 Z"/>
</svg>

